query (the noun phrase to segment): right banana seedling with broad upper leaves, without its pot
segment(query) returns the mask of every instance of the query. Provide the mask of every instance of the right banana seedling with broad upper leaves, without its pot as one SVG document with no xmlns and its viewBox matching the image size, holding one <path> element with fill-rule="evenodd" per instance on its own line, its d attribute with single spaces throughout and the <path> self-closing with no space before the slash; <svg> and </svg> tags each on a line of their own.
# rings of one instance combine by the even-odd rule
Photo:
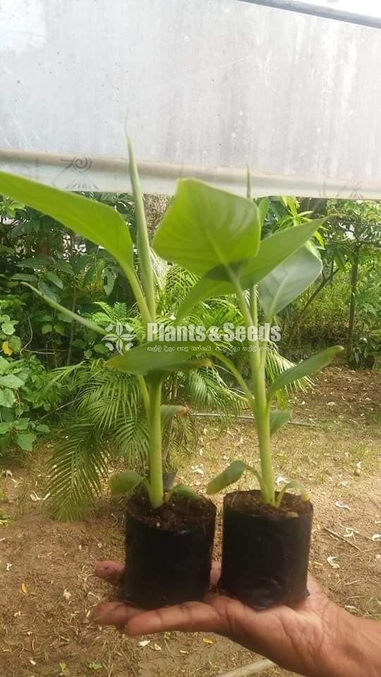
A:
<svg viewBox="0 0 381 677">
<path fill-rule="evenodd" d="M 259 307 L 265 322 L 271 325 L 274 316 L 320 274 L 320 257 L 309 240 L 324 221 L 306 221 L 261 240 L 260 209 L 249 196 L 231 195 L 192 179 L 180 181 L 152 243 L 159 256 L 200 276 L 183 300 L 178 322 L 200 300 L 235 294 L 248 331 L 258 327 Z M 286 484 L 282 492 L 276 492 L 271 437 L 289 421 L 291 412 L 273 409 L 272 401 L 279 389 L 322 369 L 342 348 L 333 346 L 317 353 L 280 374 L 267 388 L 268 341 L 255 338 L 251 347 L 250 387 L 228 358 L 220 354 L 219 359 L 236 376 L 253 410 L 260 469 L 243 461 L 234 461 L 210 482 L 207 493 L 216 494 L 248 471 L 260 484 L 263 503 L 279 506 L 284 492 L 291 488 L 297 489 L 306 500 L 306 491 L 297 480 Z"/>
</svg>

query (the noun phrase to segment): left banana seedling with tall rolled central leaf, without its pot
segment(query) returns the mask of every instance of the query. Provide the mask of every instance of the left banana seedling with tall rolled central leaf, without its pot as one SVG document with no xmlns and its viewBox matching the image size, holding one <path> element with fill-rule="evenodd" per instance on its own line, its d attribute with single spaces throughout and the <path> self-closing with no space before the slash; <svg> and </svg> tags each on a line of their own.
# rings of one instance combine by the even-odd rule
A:
<svg viewBox="0 0 381 677">
<path fill-rule="evenodd" d="M 156 321 L 157 288 L 152 252 L 148 240 L 143 194 L 140 189 L 138 170 L 130 143 L 128 144 L 128 151 L 131 184 L 135 200 L 136 244 L 140 267 L 138 271 L 133 262 L 133 240 L 128 226 L 126 226 L 122 216 L 111 207 L 88 200 L 81 195 L 66 193 L 63 190 L 5 172 L 0 172 L 0 192 L 9 197 L 18 195 L 18 200 L 25 205 L 52 216 L 75 233 L 109 251 L 121 266 L 130 283 L 143 324 L 147 328 L 148 324 Z M 25 285 L 29 286 L 37 295 L 40 295 L 48 305 L 65 313 L 72 321 L 79 322 L 97 334 L 106 336 L 107 331 L 96 322 L 68 310 L 29 283 L 25 282 Z M 147 334 L 147 331 L 145 333 Z M 150 477 L 148 479 L 133 470 L 118 473 L 111 477 L 111 491 L 116 495 L 131 493 L 139 485 L 145 484 L 153 508 L 159 508 L 164 501 L 163 429 L 171 417 L 184 415 L 182 405 L 162 403 L 164 379 L 168 374 L 178 369 L 184 371 L 211 365 L 210 360 L 205 358 L 205 346 L 203 346 L 204 350 L 200 358 L 198 358 L 200 348 L 195 351 L 194 346 L 186 346 L 184 343 L 174 343 L 170 351 L 159 350 L 159 348 L 162 348 L 162 346 L 157 346 L 155 343 L 143 344 L 108 361 L 110 368 L 135 374 L 138 377 L 147 415 L 150 457 Z M 170 493 L 173 492 L 195 496 L 191 489 L 183 484 L 178 484 L 171 489 Z M 169 494 L 165 496 L 165 499 L 168 498 Z"/>
</svg>

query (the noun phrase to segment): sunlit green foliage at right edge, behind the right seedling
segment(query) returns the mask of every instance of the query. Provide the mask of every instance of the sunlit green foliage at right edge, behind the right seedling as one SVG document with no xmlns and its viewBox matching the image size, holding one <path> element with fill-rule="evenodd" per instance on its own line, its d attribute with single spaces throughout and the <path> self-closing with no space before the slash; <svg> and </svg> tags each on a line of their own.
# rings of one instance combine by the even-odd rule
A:
<svg viewBox="0 0 381 677">
<path fill-rule="evenodd" d="M 271 197 L 258 201 L 264 231 L 325 216 L 315 239 L 320 279 L 282 312 L 282 353 L 298 359 L 319 346 L 343 343 L 353 366 L 380 364 L 381 203 Z"/>
</svg>

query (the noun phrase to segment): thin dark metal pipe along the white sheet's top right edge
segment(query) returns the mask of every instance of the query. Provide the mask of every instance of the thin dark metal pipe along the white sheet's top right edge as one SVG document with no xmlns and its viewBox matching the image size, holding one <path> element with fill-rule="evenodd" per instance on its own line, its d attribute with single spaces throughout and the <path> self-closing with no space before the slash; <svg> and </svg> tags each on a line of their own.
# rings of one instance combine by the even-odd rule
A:
<svg viewBox="0 0 381 677">
<path fill-rule="evenodd" d="M 240 0 L 241 2 L 250 2 L 253 5 L 263 5 L 274 9 L 284 9 L 290 12 L 300 14 L 310 14 L 312 16 L 321 16 L 325 19 L 334 19 L 336 21 L 345 21 L 359 26 L 368 26 L 369 28 L 381 28 L 381 18 L 369 16 L 368 14 L 356 14 L 354 12 L 345 12 L 341 9 L 332 9 L 320 5 L 309 5 L 306 2 L 298 0 Z"/>
</svg>

